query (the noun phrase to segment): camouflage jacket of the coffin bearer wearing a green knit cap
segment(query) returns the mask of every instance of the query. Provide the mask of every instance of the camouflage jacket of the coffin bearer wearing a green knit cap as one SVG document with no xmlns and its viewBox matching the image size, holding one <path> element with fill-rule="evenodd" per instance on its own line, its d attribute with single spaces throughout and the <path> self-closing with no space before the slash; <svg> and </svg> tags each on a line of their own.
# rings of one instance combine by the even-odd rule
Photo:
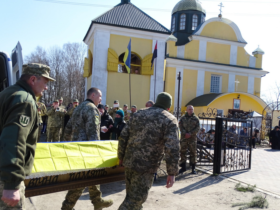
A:
<svg viewBox="0 0 280 210">
<path fill-rule="evenodd" d="M 179 171 L 179 129 L 177 119 L 158 107 L 139 109 L 123 128 L 118 158 L 123 165 L 141 173 L 155 173 L 164 153 L 169 175 Z"/>
</svg>

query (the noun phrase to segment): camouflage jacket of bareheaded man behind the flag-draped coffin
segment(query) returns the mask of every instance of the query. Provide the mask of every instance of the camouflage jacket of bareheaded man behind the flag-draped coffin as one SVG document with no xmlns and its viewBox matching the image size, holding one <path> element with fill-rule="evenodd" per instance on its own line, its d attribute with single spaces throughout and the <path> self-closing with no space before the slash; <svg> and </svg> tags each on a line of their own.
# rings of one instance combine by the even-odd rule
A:
<svg viewBox="0 0 280 210">
<path fill-rule="evenodd" d="M 100 118 L 100 112 L 94 102 L 86 99 L 73 111 L 64 129 L 64 141 L 100 140 Z"/>
</svg>

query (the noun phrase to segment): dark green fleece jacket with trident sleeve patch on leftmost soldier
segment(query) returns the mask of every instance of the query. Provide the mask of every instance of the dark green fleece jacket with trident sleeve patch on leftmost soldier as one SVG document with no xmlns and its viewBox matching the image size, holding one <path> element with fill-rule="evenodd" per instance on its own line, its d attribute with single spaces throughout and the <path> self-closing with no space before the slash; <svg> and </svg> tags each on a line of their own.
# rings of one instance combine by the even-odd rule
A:
<svg viewBox="0 0 280 210">
<path fill-rule="evenodd" d="M 36 97 L 23 80 L 0 93 L 0 179 L 19 189 L 31 174 L 39 127 Z"/>
</svg>

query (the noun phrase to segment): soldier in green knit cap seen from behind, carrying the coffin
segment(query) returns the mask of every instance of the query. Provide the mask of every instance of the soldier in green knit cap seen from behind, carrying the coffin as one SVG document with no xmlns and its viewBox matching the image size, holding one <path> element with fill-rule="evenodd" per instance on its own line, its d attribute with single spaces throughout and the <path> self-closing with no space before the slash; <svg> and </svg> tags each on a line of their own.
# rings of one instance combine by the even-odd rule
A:
<svg viewBox="0 0 280 210">
<path fill-rule="evenodd" d="M 167 110 L 172 105 L 168 93 L 160 93 L 154 106 L 140 109 L 127 122 L 119 137 L 119 164 L 125 167 L 126 197 L 119 210 L 143 209 L 165 153 L 166 188 L 173 186 L 179 171 L 178 121 Z"/>
</svg>

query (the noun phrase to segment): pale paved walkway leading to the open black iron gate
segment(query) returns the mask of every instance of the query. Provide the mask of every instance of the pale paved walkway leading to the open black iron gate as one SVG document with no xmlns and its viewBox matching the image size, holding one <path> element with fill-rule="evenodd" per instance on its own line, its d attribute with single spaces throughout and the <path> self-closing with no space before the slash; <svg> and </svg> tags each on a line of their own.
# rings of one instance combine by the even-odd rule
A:
<svg viewBox="0 0 280 210">
<path fill-rule="evenodd" d="M 212 172 L 213 167 L 197 167 Z M 251 170 L 222 174 L 235 181 L 255 185 L 258 190 L 280 198 L 280 150 L 252 149 Z"/>
</svg>

